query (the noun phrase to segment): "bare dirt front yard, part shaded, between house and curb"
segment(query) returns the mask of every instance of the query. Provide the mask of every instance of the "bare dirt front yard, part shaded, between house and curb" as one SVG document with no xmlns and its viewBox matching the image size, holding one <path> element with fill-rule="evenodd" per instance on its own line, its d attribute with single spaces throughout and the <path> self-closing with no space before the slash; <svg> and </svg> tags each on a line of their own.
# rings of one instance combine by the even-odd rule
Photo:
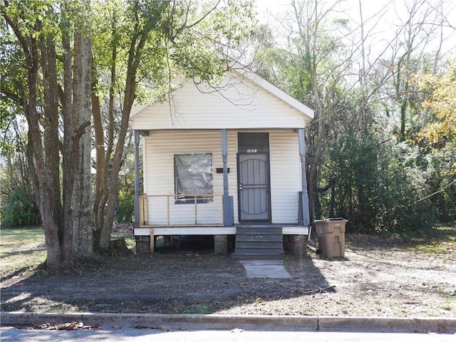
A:
<svg viewBox="0 0 456 342">
<path fill-rule="evenodd" d="M 247 279 L 229 256 L 191 249 L 16 272 L 2 277 L 1 310 L 456 317 L 455 228 L 445 242 L 346 240 L 344 259 L 286 254 L 293 279 Z"/>
</svg>

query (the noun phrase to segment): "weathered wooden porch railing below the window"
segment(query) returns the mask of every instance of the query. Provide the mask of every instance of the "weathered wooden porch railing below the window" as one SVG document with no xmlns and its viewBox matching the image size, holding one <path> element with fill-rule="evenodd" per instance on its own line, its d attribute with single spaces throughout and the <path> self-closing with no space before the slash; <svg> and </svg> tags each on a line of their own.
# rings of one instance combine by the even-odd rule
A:
<svg viewBox="0 0 456 342">
<path fill-rule="evenodd" d="M 140 195 L 140 227 L 224 225 L 223 195 Z"/>
</svg>

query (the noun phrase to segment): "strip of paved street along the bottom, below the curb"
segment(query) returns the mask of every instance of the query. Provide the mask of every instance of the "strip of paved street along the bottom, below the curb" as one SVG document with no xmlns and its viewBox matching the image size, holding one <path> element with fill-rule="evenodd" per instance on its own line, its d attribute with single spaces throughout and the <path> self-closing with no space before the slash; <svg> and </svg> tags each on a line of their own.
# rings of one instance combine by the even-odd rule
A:
<svg viewBox="0 0 456 342">
<path fill-rule="evenodd" d="M 1 342 L 454 342 L 455 334 L 440 333 L 353 333 L 316 331 L 160 331 L 157 329 L 114 329 L 88 331 L 46 331 L 0 328 Z"/>
</svg>

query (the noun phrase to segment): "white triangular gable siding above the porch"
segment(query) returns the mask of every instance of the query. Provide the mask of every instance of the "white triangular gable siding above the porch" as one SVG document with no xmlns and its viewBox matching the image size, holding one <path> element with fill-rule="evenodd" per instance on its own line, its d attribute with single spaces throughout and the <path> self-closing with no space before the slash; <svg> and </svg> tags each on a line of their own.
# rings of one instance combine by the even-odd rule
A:
<svg viewBox="0 0 456 342">
<path fill-rule="evenodd" d="M 311 117 L 257 86 L 234 80 L 231 86 L 210 91 L 186 81 L 170 103 L 155 103 L 132 111 L 133 130 L 304 128 Z M 313 113 L 311 114 L 313 115 Z"/>
</svg>

